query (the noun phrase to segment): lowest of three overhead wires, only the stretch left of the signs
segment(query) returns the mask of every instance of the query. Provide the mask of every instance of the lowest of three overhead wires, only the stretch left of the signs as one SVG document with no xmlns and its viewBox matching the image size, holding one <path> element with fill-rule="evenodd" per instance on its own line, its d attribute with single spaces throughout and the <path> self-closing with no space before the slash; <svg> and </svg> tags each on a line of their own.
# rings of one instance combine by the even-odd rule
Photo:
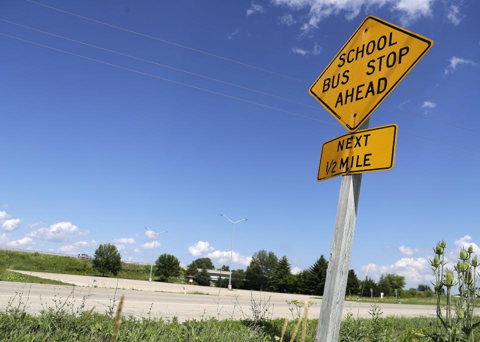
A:
<svg viewBox="0 0 480 342">
<path fill-rule="evenodd" d="M 171 82 L 171 83 L 180 84 L 180 85 L 187 86 L 187 87 L 190 87 L 190 88 L 193 88 L 193 89 L 198 89 L 198 90 L 206 91 L 206 92 L 209 92 L 209 93 L 212 93 L 212 94 L 216 94 L 216 95 L 220 95 L 220 96 L 224 96 L 224 97 L 236 99 L 236 100 L 243 101 L 243 102 L 246 102 L 246 103 L 255 104 L 255 105 L 258 105 L 258 106 L 261 106 L 261 107 L 264 107 L 264 108 L 269 108 L 269 109 L 281 111 L 281 112 L 283 112 L 283 113 L 291 114 L 291 115 L 298 116 L 298 117 L 303 117 L 303 118 L 310 119 L 310 120 L 313 120 L 313 121 L 317 121 L 317 122 L 321 122 L 321 123 L 325 123 L 325 124 L 329 124 L 329 125 L 333 125 L 333 126 L 339 126 L 339 124 L 331 123 L 331 122 L 327 122 L 327 121 L 323 121 L 323 120 L 317 119 L 317 118 L 315 118 L 315 117 L 311 117 L 311 116 L 307 116 L 307 115 L 303 115 L 303 114 L 298 114 L 298 113 L 295 113 L 295 112 L 292 112 L 292 111 L 288 111 L 288 110 L 284 110 L 284 109 L 272 107 L 272 106 L 269 106 L 269 105 L 266 105 L 266 104 L 262 104 L 262 103 L 250 101 L 250 100 L 247 100 L 247 99 L 244 99 L 244 98 L 240 98 L 240 97 L 236 97 L 236 96 L 231 96 L 231 95 L 227 95 L 227 94 L 224 94 L 224 93 L 221 93 L 221 92 L 217 92 L 217 91 L 213 91 L 213 90 L 201 88 L 201 87 L 199 87 L 199 86 L 195 86 L 195 85 L 191 85 L 191 84 L 187 84 L 187 83 L 178 82 L 178 81 L 175 81 L 175 80 L 172 80 L 172 79 L 169 79 L 169 78 L 152 75 L 152 74 L 150 74 L 150 73 L 146 73 L 146 72 L 142 72 L 142 71 L 130 69 L 130 68 L 127 68 L 127 67 L 124 67 L 124 66 L 120 66 L 120 65 L 108 63 L 108 62 L 103 61 L 103 60 L 98 60 L 98 59 L 86 57 L 86 56 L 83 56 L 83 55 L 81 55 L 81 54 L 77 54 L 77 53 L 73 53 L 73 52 L 68 52 L 68 51 L 65 51 L 65 50 L 61 50 L 61 49 L 59 49 L 59 48 L 51 47 L 51 46 L 48 46 L 48 45 L 43 45 L 43 44 L 40 44 L 40 43 L 37 43 L 37 42 L 34 42 L 34 41 L 22 39 L 22 38 L 15 37 L 15 36 L 13 36 L 13 35 L 5 34 L 5 33 L 2 33 L 2 32 L 0 32 L 0 34 L 3 35 L 3 36 L 6 36 L 6 37 L 12 38 L 12 39 L 21 40 L 21 41 L 23 41 L 23 42 L 27 42 L 27 43 L 34 44 L 34 45 L 41 46 L 41 47 L 45 47 L 45 48 L 49 48 L 49 49 L 51 49 L 51 50 L 63 52 L 63 53 L 66 53 L 66 54 L 69 54 L 69 55 L 72 55 L 72 56 L 81 57 L 81 58 L 84 58 L 84 59 L 88 59 L 88 60 L 91 60 L 91 61 L 95 61 L 95 62 L 97 62 L 97 63 L 102 63 L 102 64 L 105 64 L 105 65 L 117 67 L 117 68 L 120 68 L 120 69 L 123 69 L 123 70 L 127 70 L 127 71 L 132 71 L 132 72 L 135 72 L 135 73 L 139 73 L 139 74 L 142 74 L 142 75 L 145 75 L 145 76 L 150 76 L 150 77 L 153 77 L 153 78 L 162 79 L 162 80 L 165 80 L 165 81 L 168 81 L 168 82 Z"/>
</svg>

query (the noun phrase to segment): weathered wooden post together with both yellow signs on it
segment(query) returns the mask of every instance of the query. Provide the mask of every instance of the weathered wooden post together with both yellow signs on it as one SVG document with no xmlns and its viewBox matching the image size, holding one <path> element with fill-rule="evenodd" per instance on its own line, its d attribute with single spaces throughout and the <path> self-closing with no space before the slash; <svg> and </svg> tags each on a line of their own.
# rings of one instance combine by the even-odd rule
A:
<svg viewBox="0 0 480 342">
<path fill-rule="evenodd" d="M 396 125 L 369 130 L 369 116 L 433 45 L 367 16 L 309 89 L 350 133 L 322 146 L 317 180 L 342 175 L 316 342 L 338 340 L 362 172 L 393 167 Z M 364 130 L 364 131 L 363 131 Z"/>
</svg>

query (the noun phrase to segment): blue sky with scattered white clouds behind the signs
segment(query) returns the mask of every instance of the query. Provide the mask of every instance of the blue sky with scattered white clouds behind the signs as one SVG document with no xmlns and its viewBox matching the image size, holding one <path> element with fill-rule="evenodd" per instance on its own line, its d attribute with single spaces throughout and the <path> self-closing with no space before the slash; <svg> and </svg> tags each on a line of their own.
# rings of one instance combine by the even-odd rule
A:
<svg viewBox="0 0 480 342">
<path fill-rule="evenodd" d="M 344 128 L 308 87 L 374 14 L 434 41 L 373 113 L 398 124 L 395 166 L 363 175 L 351 267 L 426 282 L 430 248 L 478 242 L 477 1 L 51 1 L 41 3 L 288 75 L 289 79 L 72 16 L 4 0 L 0 18 L 292 99 L 288 102 L 0 21 L 0 244 L 124 259 L 154 252 L 234 267 L 259 250 L 295 270 L 328 255 L 340 178 L 316 182 L 321 144 Z M 301 82 L 301 81 L 304 82 Z M 306 83 L 305 83 L 306 82 Z M 445 124 L 446 122 L 446 124 Z M 453 256 L 450 256 L 453 258 Z"/>
</svg>

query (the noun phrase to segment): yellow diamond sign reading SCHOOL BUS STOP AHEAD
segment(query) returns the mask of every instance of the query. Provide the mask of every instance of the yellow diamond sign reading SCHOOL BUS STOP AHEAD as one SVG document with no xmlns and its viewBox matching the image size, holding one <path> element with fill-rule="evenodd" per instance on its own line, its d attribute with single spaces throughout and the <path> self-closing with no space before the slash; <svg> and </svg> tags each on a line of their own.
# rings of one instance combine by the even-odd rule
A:
<svg viewBox="0 0 480 342">
<path fill-rule="evenodd" d="M 432 46 L 433 41 L 367 16 L 310 87 L 349 131 L 355 131 Z"/>
</svg>

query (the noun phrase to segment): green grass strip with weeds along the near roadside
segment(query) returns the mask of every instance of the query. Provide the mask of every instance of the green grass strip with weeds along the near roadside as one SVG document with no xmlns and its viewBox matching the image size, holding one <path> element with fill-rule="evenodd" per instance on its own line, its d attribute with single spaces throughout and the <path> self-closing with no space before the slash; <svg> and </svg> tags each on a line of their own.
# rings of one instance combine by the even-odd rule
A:
<svg viewBox="0 0 480 342">
<path fill-rule="evenodd" d="M 71 314 L 46 311 L 40 315 L 30 315 L 21 310 L 0 312 L 1 342 L 107 342 L 111 340 L 113 318 L 94 313 L 86 320 L 85 312 Z M 381 326 L 391 342 L 411 342 L 418 339 L 418 334 L 426 332 L 432 318 L 385 317 L 380 318 Z M 369 319 L 362 319 L 368 328 Z M 283 319 L 263 320 L 252 324 L 248 320 L 188 320 L 178 322 L 176 318 L 137 319 L 123 317 L 118 329 L 117 341 L 229 341 L 229 342 L 273 342 L 281 333 Z M 295 321 L 290 320 L 284 341 L 289 341 Z M 343 325 L 343 323 L 342 323 Z M 317 319 L 308 320 L 305 341 L 313 341 L 316 333 Z M 298 333 L 299 336 L 299 333 Z M 479 338 L 480 335 L 475 335 Z M 299 337 L 295 339 L 299 341 Z M 366 342 L 366 340 L 364 340 Z"/>
</svg>

